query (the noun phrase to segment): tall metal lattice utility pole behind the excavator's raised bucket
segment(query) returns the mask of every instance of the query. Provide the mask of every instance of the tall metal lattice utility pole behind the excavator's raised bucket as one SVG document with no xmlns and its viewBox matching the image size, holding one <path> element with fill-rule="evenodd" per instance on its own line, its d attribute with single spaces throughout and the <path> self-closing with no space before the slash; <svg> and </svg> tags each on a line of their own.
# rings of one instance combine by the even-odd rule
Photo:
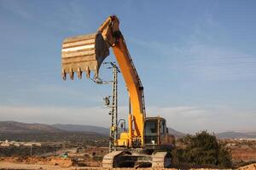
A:
<svg viewBox="0 0 256 170">
<path fill-rule="evenodd" d="M 102 81 L 100 78 L 93 79 L 94 82 L 98 84 L 112 84 L 112 96 L 104 97 L 105 105 L 111 108 L 109 115 L 111 116 L 111 124 L 109 128 L 109 152 L 116 150 L 115 143 L 118 137 L 118 73 L 119 68 L 114 62 L 104 62 L 103 64 L 109 64 L 108 69 L 113 70 L 113 80 L 112 81 Z M 111 99 L 111 105 L 109 98 Z"/>
</svg>

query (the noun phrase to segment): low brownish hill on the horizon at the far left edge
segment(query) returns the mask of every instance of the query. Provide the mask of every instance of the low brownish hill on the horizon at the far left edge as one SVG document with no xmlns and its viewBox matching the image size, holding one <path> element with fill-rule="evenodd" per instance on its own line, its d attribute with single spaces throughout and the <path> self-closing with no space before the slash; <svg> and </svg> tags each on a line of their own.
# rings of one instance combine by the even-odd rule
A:
<svg viewBox="0 0 256 170">
<path fill-rule="evenodd" d="M 0 133 L 61 133 L 63 130 L 39 123 L 0 122 Z"/>
</svg>

